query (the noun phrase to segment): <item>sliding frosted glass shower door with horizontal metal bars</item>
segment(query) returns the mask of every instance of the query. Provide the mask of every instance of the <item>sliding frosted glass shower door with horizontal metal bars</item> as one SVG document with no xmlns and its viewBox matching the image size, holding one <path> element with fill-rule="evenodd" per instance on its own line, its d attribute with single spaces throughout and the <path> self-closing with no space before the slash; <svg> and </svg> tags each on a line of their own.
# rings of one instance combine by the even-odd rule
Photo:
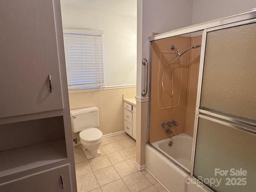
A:
<svg viewBox="0 0 256 192">
<path fill-rule="evenodd" d="M 193 175 L 217 192 L 256 189 L 254 22 L 207 30 Z"/>
</svg>

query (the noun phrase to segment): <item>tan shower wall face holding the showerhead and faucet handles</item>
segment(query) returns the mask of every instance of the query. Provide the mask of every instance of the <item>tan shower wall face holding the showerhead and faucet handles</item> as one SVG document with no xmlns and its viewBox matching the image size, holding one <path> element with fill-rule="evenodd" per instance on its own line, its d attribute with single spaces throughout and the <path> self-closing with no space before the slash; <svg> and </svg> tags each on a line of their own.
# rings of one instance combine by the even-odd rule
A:
<svg viewBox="0 0 256 192">
<path fill-rule="evenodd" d="M 190 46 L 190 37 L 172 37 L 154 41 L 152 43 L 152 73 L 151 73 L 151 103 L 150 103 L 150 142 L 170 137 L 163 122 L 176 120 L 179 125 L 171 128 L 174 134 L 184 131 L 184 109 L 186 103 L 186 86 L 189 54 L 178 58 L 173 74 L 173 92 L 170 97 L 162 89 L 162 73 L 164 66 L 176 55 L 171 45 L 185 50 Z M 164 87 L 171 94 L 171 71 L 174 61 L 168 65 L 164 73 Z"/>
</svg>

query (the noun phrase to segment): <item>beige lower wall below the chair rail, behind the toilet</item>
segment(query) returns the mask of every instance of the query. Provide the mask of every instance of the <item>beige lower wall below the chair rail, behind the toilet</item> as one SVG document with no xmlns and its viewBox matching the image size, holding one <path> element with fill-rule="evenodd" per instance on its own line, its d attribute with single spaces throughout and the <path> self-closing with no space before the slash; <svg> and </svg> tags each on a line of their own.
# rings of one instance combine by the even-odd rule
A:
<svg viewBox="0 0 256 192">
<path fill-rule="evenodd" d="M 70 110 L 96 106 L 99 109 L 99 128 L 103 134 L 122 131 L 123 94 L 135 95 L 135 92 L 136 87 L 69 93 Z"/>
</svg>

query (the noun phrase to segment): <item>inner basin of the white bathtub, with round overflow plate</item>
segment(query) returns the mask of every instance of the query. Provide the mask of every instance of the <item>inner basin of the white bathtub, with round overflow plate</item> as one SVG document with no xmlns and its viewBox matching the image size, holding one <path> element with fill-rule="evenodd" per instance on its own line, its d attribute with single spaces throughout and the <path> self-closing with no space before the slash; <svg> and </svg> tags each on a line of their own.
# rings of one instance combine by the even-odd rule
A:
<svg viewBox="0 0 256 192">
<path fill-rule="evenodd" d="M 171 147 L 168 146 L 168 142 L 170 141 L 172 141 Z M 163 154 L 171 158 L 174 162 L 182 166 L 185 170 L 190 172 L 192 143 L 193 138 L 182 133 L 151 144 Z"/>
</svg>

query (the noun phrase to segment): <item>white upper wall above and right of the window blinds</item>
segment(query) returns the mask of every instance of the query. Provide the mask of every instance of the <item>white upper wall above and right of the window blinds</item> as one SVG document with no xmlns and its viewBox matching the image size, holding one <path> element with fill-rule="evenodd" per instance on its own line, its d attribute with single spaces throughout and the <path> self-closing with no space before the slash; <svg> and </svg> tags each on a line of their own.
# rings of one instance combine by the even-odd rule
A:
<svg viewBox="0 0 256 192">
<path fill-rule="evenodd" d="M 99 11 L 72 7 L 63 1 L 61 5 L 63 28 L 103 30 L 105 86 L 136 84 L 136 17 L 106 12 L 100 3 Z M 115 6 L 112 4 L 112 8 Z"/>
</svg>

